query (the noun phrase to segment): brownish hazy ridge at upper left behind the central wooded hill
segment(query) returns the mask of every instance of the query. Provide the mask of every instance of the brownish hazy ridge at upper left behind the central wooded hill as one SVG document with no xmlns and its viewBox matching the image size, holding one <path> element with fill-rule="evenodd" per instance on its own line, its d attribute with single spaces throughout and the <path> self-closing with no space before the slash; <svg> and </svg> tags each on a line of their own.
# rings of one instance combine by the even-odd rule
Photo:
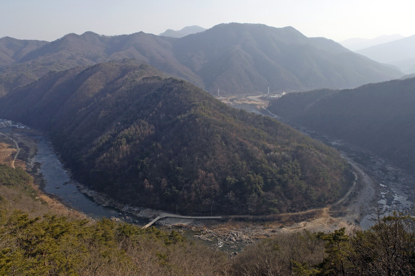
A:
<svg viewBox="0 0 415 276">
<path fill-rule="evenodd" d="M 200 77 L 174 58 L 174 53 L 169 50 L 171 47 L 169 38 L 143 32 L 111 37 L 93 32 L 81 35 L 67 34 L 61 39 L 36 48 L 19 62 L 0 70 L 0 96 L 15 87 L 39 79 L 49 71 L 124 58 L 136 58 L 150 63 L 203 87 Z"/>
</svg>

